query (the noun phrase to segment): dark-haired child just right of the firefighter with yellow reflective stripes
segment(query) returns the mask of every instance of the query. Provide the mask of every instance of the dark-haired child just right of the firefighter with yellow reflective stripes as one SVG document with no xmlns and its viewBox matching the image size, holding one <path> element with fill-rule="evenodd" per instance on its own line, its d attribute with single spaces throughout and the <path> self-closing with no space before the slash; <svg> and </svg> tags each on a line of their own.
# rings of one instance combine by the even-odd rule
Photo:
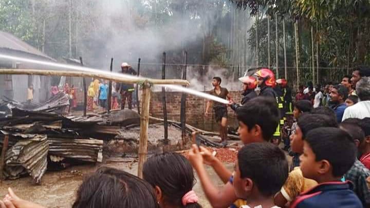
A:
<svg viewBox="0 0 370 208">
<path fill-rule="evenodd" d="M 312 110 L 312 104 L 308 100 L 300 100 L 294 103 L 294 109 L 293 109 L 293 117 L 295 121 L 304 113 L 304 112 L 310 112 Z M 297 126 L 297 122 L 294 122 L 291 126 L 291 134 L 294 135 L 295 128 Z M 290 140 L 289 140 L 290 141 Z M 289 144 L 290 145 L 290 144 Z M 289 150 L 289 155 L 292 156 L 292 165 L 290 166 L 290 171 L 293 170 L 294 167 L 299 166 L 299 155 L 297 153 L 294 153 Z"/>
</svg>

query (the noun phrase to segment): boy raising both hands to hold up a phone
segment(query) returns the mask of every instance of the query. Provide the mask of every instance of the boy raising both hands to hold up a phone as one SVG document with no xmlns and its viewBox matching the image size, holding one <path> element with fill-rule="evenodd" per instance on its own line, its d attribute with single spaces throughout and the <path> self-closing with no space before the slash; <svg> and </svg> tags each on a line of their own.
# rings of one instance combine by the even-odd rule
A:
<svg viewBox="0 0 370 208">
<path fill-rule="evenodd" d="M 238 134 L 244 144 L 268 142 L 280 121 L 276 100 L 269 97 L 257 97 L 248 101 L 249 104 L 237 109 L 239 121 Z M 198 147 L 195 145 L 195 147 Z M 198 173 L 203 190 L 212 207 L 229 207 L 238 198 L 232 185 L 232 173 L 214 157 L 206 148 L 200 147 L 197 152 L 190 150 L 189 160 Z M 200 157 L 200 159 L 199 159 Z M 217 190 L 209 178 L 202 162 L 213 167 L 217 175 L 225 183 L 222 190 Z"/>
</svg>

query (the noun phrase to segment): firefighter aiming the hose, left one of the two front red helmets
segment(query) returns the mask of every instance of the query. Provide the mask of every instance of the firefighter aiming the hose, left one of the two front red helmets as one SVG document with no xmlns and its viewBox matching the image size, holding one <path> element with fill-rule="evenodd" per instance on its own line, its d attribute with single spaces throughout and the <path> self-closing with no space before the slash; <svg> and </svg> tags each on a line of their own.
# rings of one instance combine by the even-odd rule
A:
<svg viewBox="0 0 370 208">
<path fill-rule="evenodd" d="M 230 104 L 231 109 L 234 111 L 236 111 L 238 107 L 247 104 L 250 99 L 257 97 L 257 93 L 254 91 L 254 89 L 257 87 L 257 80 L 254 77 L 246 75 L 239 78 L 239 81 L 243 83 L 243 98 L 240 105 L 236 103 Z"/>
</svg>

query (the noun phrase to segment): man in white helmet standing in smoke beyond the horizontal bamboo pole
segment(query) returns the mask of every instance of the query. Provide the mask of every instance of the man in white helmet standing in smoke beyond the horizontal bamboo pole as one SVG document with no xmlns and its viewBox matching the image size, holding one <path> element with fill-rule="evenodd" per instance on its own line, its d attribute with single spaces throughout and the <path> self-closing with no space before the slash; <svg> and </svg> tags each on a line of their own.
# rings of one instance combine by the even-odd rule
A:
<svg viewBox="0 0 370 208">
<path fill-rule="evenodd" d="M 136 71 L 127 63 L 121 64 L 121 73 L 128 74 L 128 75 L 136 75 Z M 132 109 L 132 94 L 134 92 L 134 84 L 125 84 L 125 83 L 117 83 L 117 92 L 121 93 L 121 109 L 124 109 L 124 106 L 128 104 L 128 109 Z"/>
</svg>

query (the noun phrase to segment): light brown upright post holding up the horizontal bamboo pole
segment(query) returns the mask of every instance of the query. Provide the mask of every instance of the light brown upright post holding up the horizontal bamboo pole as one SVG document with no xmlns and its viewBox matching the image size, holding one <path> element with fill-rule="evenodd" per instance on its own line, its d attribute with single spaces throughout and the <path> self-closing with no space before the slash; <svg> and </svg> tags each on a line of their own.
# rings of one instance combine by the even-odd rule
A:
<svg viewBox="0 0 370 208">
<path fill-rule="evenodd" d="M 151 86 L 149 82 L 145 81 L 142 86 L 142 97 L 141 97 L 142 111 L 140 115 L 140 140 L 139 140 L 139 165 L 138 165 L 139 178 L 142 178 L 142 170 L 147 155 L 147 139 L 148 139 L 147 131 L 149 126 L 150 96 L 151 96 Z"/>
</svg>

